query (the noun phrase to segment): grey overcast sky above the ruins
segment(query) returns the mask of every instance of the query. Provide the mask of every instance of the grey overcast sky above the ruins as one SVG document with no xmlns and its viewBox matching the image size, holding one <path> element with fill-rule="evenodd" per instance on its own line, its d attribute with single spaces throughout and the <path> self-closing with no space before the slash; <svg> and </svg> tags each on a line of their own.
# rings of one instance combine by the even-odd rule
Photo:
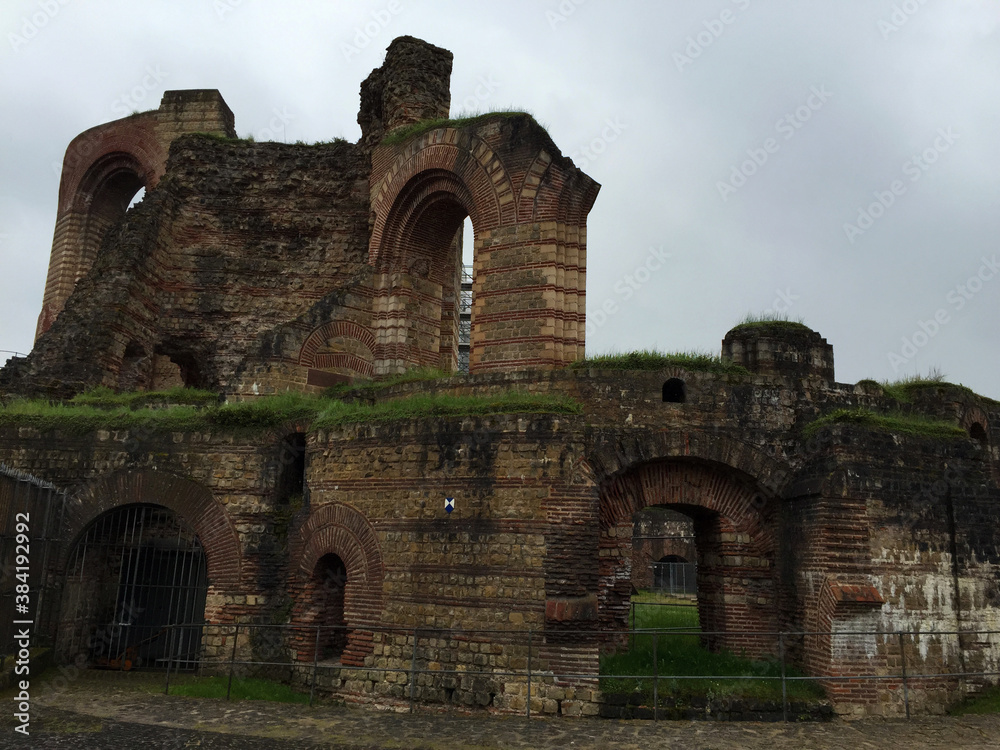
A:
<svg viewBox="0 0 1000 750">
<path fill-rule="evenodd" d="M 26 352 L 81 131 L 216 88 L 240 135 L 360 136 L 409 34 L 452 115 L 515 107 L 601 183 L 588 353 L 718 353 L 747 313 L 840 382 L 939 368 L 1000 398 L 996 0 L 3 0 L 0 349 Z"/>
</svg>

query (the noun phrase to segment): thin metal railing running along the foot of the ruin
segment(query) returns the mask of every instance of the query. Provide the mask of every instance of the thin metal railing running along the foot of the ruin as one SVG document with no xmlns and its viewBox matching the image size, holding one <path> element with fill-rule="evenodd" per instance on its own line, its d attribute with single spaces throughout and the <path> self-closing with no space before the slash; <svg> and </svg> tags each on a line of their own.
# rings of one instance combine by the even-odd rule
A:
<svg viewBox="0 0 1000 750">
<path fill-rule="evenodd" d="M 373 643 L 383 646 L 395 653 L 392 661 L 395 665 L 379 666 L 374 656 L 365 660 L 364 666 L 345 665 L 336 659 L 325 659 L 322 656 L 321 645 L 324 641 L 324 634 L 329 637 L 329 631 L 342 630 L 347 633 L 352 629 L 347 626 L 296 626 L 296 625 L 256 625 L 247 623 L 236 623 L 232 625 L 206 625 L 189 624 L 168 626 L 167 631 L 172 632 L 167 636 L 170 644 L 187 643 L 190 644 L 192 638 L 184 637 L 184 629 L 197 628 L 199 634 L 206 639 L 214 639 L 218 654 L 214 658 L 207 658 L 204 655 L 193 657 L 189 651 L 187 654 L 174 653 L 173 645 L 170 646 L 166 656 L 159 665 L 165 670 L 164 692 L 170 691 L 171 676 L 177 675 L 178 671 L 196 671 L 200 674 L 226 675 L 227 677 L 227 700 L 231 698 L 234 678 L 245 679 L 251 672 L 265 674 L 271 679 L 278 677 L 282 681 L 289 683 L 298 682 L 301 685 L 309 686 L 309 705 L 312 705 L 318 687 L 319 675 L 323 672 L 338 670 L 338 678 L 343 679 L 363 679 L 374 681 L 381 679 L 391 682 L 394 685 L 405 688 L 408 696 L 409 710 L 416 710 L 418 702 L 433 702 L 430 700 L 417 700 L 417 686 L 421 684 L 423 675 L 431 675 L 431 680 L 424 680 L 425 686 L 432 685 L 433 680 L 444 681 L 467 680 L 469 678 L 485 678 L 488 680 L 501 679 L 503 683 L 511 681 L 523 681 L 526 685 L 525 694 L 525 715 L 530 718 L 532 713 L 532 699 L 538 696 L 538 692 L 533 690 L 532 684 L 539 682 L 572 684 L 589 684 L 597 687 L 600 681 L 606 679 L 614 680 L 634 680 L 637 685 L 648 683 L 652 691 L 652 718 L 657 720 L 661 712 L 661 697 L 666 694 L 661 692 L 664 684 L 679 683 L 685 680 L 755 680 L 759 682 L 780 682 L 781 685 L 781 713 L 782 718 L 787 721 L 789 714 L 789 687 L 795 683 L 822 682 L 827 686 L 838 682 L 889 682 L 895 683 L 893 689 L 899 689 L 902 693 L 902 701 L 905 707 L 907 718 L 911 715 L 911 690 L 915 684 L 930 680 L 968 680 L 979 678 L 986 681 L 992 679 L 994 682 L 1000 677 L 1000 671 L 983 669 L 968 671 L 964 668 L 950 669 L 947 664 L 940 664 L 938 668 L 931 671 L 920 671 L 921 664 L 928 664 L 920 659 L 917 654 L 921 651 L 921 639 L 930 638 L 940 641 L 946 638 L 955 638 L 961 645 L 961 639 L 975 637 L 980 643 L 985 639 L 993 644 L 994 648 L 1000 650 L 1000 631 L 996 630 L 946 630 L 946 631 L 745 631 L 734 633 L 733 631 L 702 631 L 698 629 L 635 629 L 631 635 L 633 638 L 650 638 L 652 648 L 652 673 L 650 674 L 594 674 L 555 671 L 548 667 L 549 659 L 558 653 L 559 643 L 568 642 L 580 644 L 581 641 L 588 641 L 592 645 L 606 644 L 620 639 L 623 636 L 628 638 L 628 631 L 621 630 L 580 630 L 562 631 L 553 633 L 551 631 L 501 631 L 501 630 L 454 630 L 444 628 L 364 628 L 357 632 L 364 632 L 373 638 Z M 241 636 L 243 640 L 241 641 Z M 776 662 L 779 667 L 778 674 L 670 674 L 660 669 L 661 655 L 663 649 L 669 650 L 669 641 L 661 644 L 661 639 L 671 637 L 697 636 L 703 641 L 725 640 L 734 636 L 749 642 L 750 639 L 759 638 L 763 644 L 761 652 L 770 654 L 770 661 Z M 864 658 L 857 659 L 856 666 L 862 665 L 866 668 L 858 668 L 854 671 L 845 671 L 844 665 L 840 665 L 840 671 L 835 674 L 797 674 L 795 673 L 795 659 L 791 654 L 793 651 L 802 650 L 808 639 L 840 639 L 845 648 L 853 648 L 859 656 L 866 648 L 875 645 L 877 650 L 885 657 L 885 665 L 894 664 L 892 668 L 888 666 L 884 670 L 871 667 L 871 660 Z M 293 658 L 291 655 L 291 643 L 294 642 L 300 647 L 311 644 L 309 658 Z M 514 668 L 511 666 L 488 666 L 476 664 L 472 661 L 462 661 L 456 646 L 460 643 L 476 642 L 480 644 L 499 644 L 512 647 L 519 652 L 518 663 L 523 663 L 523 667 Z M 553 642 L 555 641 L 555 642 Z M 218 648 L 218 644 L 224 643 L 227 651 L 223 653 Z M 448 644 L 446 648 L 451 649 L 446 657 L 440 653 L 434 656 L 429 655 L 433 649 L 440 651 L 442 643 Z M 853 645 L 852 645 L 853 644 Z M 879 645 L 880 644 L 880 645 Z M 242 649 L 241 649 L 242 645 Z M 545 653 L 543 653 L 543 648 Z M 404 649 L 407 653 L 404 654 Z M 204 650 L 204 647 L 203 647 Z M 244 658 L 246 651 L 250 651 L 250 656 L 259 658 Z M 241 651 L 244 653 L 241 654 Z M 944 649 L 941 649 L 942 653 Z M 659 652 L 659 653 L 658 653 Z M 444 662 L 448 662 L 447 664 Z M 515 661 L 515 660 L 511 660 Z M 994 660 L 996 661 L 996 660 Z M 933 666 L 928 664 L 928 666 Z M 897 668 L 898 667 L 898 668 Z M 254 669 L 255 668 L 255 669 Z M 346 677 L 345 677 L 346 675 Z M 391 680 L 391 675 L 402 675 L 403 680 Z M 464 688 L 470 689 L 470 688 Z M 331 688 L 331 692 L 336 689 Z M 402 697 L 404 692 L 399 691 Z"/>
</svg>

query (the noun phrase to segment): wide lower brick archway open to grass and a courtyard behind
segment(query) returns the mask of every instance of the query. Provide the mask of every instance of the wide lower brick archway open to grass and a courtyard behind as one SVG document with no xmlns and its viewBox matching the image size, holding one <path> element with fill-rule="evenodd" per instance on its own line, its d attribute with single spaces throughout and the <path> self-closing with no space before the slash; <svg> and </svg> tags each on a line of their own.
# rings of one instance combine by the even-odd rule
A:
<svg viewBox="0 0 1000 750">
<path fill-rule="evenodd" d="M 770 653 L 774 644 L 747 631 L 780 629 L 775 504 L 752 478 L 731 467 L 691 459 L 637 463 L 600 489 L 602 619 L 627 622 L 633 516 L 662 506 L 694 522 L 698 607 L 712 648 Z"/>
</svg>

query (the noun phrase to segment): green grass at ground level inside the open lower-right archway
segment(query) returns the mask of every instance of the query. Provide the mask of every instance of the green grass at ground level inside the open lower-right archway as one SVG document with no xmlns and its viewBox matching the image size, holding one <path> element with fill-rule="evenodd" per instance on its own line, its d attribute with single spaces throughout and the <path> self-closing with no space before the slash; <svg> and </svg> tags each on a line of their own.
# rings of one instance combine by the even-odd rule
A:
<svg viewBox="0 0 1000 750">
<path fill-rule="evenodd" d="M 637 632 L 627 649 L 601 657 L 601 690 L 604 692 L 638 691 L 651 701 L 652 675 L 655 673 L 661 699 L 781 700 L 781 680 L 774 679 L 781 677 L 781 663 L 776 659 L 750 659 L 730 651 L 709 651 L 701 645 L 697 607 L 659 606 L 636 601 L 634 626 L 646 632 Z M 786 674 L 802 676 L 792 667 L 787 667 Z M 822 688 L 807 680 L 790 680 L 787 689 L 790 700 L 811 701 L 824 697 Z"/>
</svg>

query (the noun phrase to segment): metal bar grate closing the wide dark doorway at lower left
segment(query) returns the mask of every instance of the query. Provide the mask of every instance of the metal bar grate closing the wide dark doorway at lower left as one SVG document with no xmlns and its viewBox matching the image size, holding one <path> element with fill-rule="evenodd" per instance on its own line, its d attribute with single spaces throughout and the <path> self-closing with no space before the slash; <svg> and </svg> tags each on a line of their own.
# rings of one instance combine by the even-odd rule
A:
<svg viewBox="0 0 1000 750">
<path fill-rule="evenodd" d="M 109 511 L 70 556 L 58 650 L 107 669 L 163 668 L 168 659 L 174 669 L 193 667 L 206 593 L 201 542 L 173 511 Z"/>
</svg>

